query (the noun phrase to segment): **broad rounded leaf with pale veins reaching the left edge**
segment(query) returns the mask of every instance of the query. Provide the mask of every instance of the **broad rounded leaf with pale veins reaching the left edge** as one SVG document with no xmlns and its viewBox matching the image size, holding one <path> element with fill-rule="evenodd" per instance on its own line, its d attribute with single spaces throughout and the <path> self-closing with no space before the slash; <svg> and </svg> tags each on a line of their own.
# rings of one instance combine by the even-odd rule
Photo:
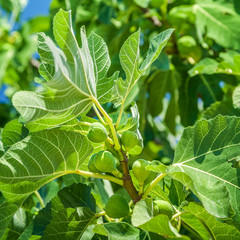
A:
<svg viewBox="0 0 240 240">
<path fill-rule="evenodd" d="M 0 207 L 0 222 L 7 224 L 6 219 L 11 219 L 8 211 L 47 182 L 76 172 L 91 151 L 83 135 L 57 129 L 36 132 L 15 143 L 0 159 L 0 191 L 7 200 Z M 0 231 L 5 224 L 0 225 Z"/>
</svg>

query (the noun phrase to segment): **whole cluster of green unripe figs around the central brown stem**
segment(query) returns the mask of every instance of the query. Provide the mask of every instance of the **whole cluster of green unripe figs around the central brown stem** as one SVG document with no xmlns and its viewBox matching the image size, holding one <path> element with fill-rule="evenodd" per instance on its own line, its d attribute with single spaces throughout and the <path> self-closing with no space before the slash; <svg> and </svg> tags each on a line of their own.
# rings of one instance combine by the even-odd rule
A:
<svg viewBox="0 0 240 240">
<path fill-rule="evenodd" d="M 94 122 L 89 127 L 87 137 L 94 143 L 105 142 L 107 148 L 107 150 L 102 150 L 90 157 L 88 162 L 89 171 L 93 173 L 110 173 L 117 178 L 122 178 L 123 174 L 119 171 L 118 154 L 108 141 L 106 128 L 101 123 Z M 135 132 L 125 131 L 119 136 L 119 141 L 125 152 L 128 152 L 139 143 L 139 138 Z M 155 162 L 149 163 L 145 159 L 138 159 L 132 165 L 132 173 L 139 183 L 139 189 L 143 189 L 144 186 L 156 178 L 157 173 L 146 169 L 149 164 L 155 164 Z M 123 195 L 114 194 L 109 198 L 105 206 L 105 212 L 111 218 L 122 218 L 129 215 L 130 207 Z M 172 205 L 164 200 L 155 200 L 153 202 L 153 215 L 158 214 L 165 214 L 171 219 L 173 215 Z"/>
</svg>

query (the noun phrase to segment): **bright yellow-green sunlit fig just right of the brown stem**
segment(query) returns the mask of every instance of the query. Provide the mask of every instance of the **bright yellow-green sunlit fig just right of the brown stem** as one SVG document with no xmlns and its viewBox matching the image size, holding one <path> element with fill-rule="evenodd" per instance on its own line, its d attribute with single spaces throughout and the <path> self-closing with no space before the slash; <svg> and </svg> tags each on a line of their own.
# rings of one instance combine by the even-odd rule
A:
<svg viewBox="0 0 240 240">
<path fill-rule="evenodd" d="M 139 185 L 143 185 L 150 174 L 150 171 L 145 169 L 148 165 L 149 162 L 145 159 L 138 159 L 132 165 L 133 174 L 138 180 Z"/>
</svg>

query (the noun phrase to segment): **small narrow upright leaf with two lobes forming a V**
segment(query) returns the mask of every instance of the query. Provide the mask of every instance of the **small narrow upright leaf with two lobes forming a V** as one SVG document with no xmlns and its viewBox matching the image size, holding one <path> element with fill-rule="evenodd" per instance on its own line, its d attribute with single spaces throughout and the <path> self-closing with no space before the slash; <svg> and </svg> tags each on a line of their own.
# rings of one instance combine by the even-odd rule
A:
<svg viewBox="0 0 240 240">
<path fill-rule="evenodd" d="M 133 33 L 123 44 L 120 50 L 120 63 L 126 74 L 126 79 L 118 79 L 116 82 L 116 106 L 125 104 L 127 97 L 131 96 L 134 86 L 141 77 L 141 75 L 151 66 L 157 59 L 162 49 L 167 44 L 173 29 L 165 30 L 158 34 L 150 42 L 149 50 L 146 58 L 139 67 L 140 58 L 140 30 Z"/>
</svg>

